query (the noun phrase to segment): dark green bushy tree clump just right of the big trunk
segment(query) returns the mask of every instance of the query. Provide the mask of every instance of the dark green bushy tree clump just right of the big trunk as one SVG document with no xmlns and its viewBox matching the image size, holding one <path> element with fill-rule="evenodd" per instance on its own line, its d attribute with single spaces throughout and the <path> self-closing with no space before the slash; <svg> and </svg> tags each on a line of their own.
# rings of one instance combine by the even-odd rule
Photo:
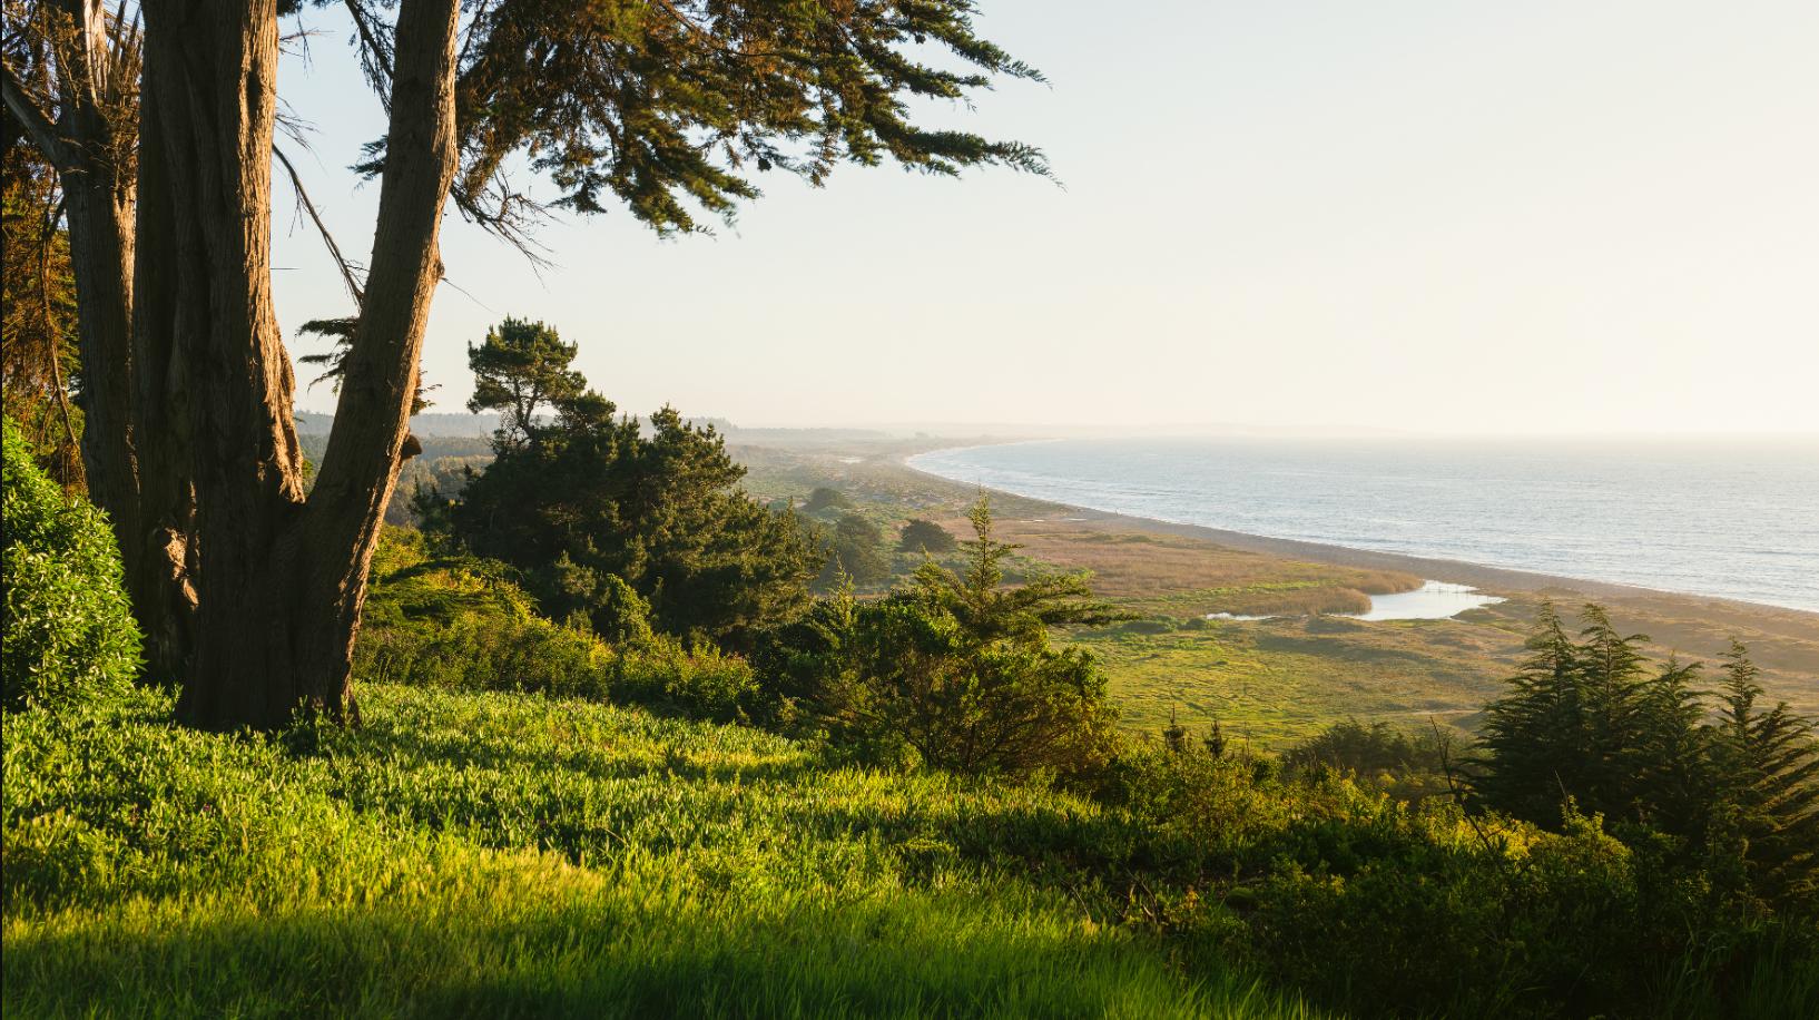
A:
<svg viewBox="0 0 1819 1020">
<path fill-rule="evenodd" d="M 648 435 L 615 418 L 573 356 L 555 331 L 515 320 L 469 349 L 475 405 L 504 409 L 506 427 L 455 500 L 417 500 L 424 527 L 511 564 L 546 615 L 578 613 L 609 640 L 635 636 L 633 595 L 689 644 L 737 647 L 795 615 L 820 565 L 804 524 L 739 489 L 744 469 L 711 425 L 669 407 Z"/>
</svg>

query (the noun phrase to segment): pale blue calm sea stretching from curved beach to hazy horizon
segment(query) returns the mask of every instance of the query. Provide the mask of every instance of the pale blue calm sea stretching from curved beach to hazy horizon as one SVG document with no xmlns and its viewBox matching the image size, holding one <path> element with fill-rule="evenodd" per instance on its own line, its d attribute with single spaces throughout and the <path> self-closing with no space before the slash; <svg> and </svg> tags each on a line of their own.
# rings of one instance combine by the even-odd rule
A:
<svg viewBox="0 0 1819 1020">
<path fill-rule="evenodd" d="M 1819 440 L 1057 440 L 910 464 L 1179 524 L 1819 611 Z"/>
</svg>

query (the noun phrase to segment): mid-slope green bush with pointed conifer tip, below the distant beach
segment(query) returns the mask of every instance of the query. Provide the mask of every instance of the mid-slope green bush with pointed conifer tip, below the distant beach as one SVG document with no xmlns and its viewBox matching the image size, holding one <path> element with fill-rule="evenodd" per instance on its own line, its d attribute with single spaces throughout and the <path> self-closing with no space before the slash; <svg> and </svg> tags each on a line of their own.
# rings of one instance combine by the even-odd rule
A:
<svg viewBox="0 0 1819 1020">
<path fill-rule="evenodd" d="M 1093 624 L 1079 576 L 1002 587 L 1011 545 L 973 509 L 964 575 L 928 562 L 884 598 L 849 587 L 760 651 L 786 720 L 875 760 L 915 758 L 959 773 L 1091 771 L 1111 745 L 1113 711 L 1091 656 L 1055 649 L 1048 629 Z"/>
</svg>

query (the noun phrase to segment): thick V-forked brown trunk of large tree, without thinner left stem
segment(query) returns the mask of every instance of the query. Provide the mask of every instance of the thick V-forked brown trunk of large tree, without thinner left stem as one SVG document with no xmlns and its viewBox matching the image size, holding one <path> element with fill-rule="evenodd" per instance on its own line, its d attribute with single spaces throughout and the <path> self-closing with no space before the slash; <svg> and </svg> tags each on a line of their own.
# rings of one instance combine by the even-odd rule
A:
<svg viewBox="0 0 1819 1020">
<path fill-rule="evenodd" d="M 353 636 L 397 478 L 455 169 L 457 0 L 406 0 L 360 327 L 307 505 L 293 378 L 271 305 L 273 0 L 146 5 L 135 351 L 153 527 L 195 578 L 178 715 L 209 729 L 342 716 Z M 171 453 L 175 451 L 175 453 Z M 189 471 L 175 469 L 187 462 Z M 160 489 L 169 478 L 176 485 Z M 180 480 L 193 489 L 184 520 Z M 173 556 L 175 560 L 175 556 Z"/>
</svg>

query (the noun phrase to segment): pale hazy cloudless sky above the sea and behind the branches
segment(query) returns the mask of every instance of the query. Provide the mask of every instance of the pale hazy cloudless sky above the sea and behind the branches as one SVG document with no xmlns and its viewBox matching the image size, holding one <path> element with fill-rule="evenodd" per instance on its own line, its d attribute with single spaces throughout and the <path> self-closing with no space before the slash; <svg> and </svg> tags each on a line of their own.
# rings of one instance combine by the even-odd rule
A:
<svg viewBox="0 0 1819 1020">
<path fill-rule="evenodd" d="M 713 236 L 560 218 L 542 271 L 449 211 L 435 411 L 511 315 L 626 411 L 746 427 L 1819 433 L 1819 4 L 980 7 L 1048 84 L 928 122 L 1060 185 L 771 173 Z M 344 167 L 384 120 L 346 24 L 304 25 L 293 162 L 357 253 L 378 185 Z M 275 231 L 311 353 L 295 327 L 347 296 L 282 178 Z"/>
</svg>

